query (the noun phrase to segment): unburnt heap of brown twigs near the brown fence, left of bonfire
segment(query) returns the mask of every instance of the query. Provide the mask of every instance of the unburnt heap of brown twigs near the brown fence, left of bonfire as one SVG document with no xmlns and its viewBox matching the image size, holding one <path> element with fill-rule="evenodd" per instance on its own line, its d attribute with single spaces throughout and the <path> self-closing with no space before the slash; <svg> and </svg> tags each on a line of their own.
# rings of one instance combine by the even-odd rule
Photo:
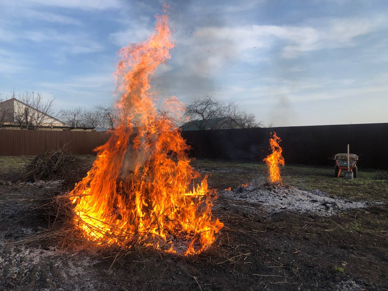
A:
<svg viewBox="0 0 388 291">
<path fill-rule="evenodd" d="M 36 156 L 27 166 L 24 173 L 17 179 L 22 182 L 57 181 L 64 185 L 72 185 L 85 177 L 90 165 L 70 152 L 45 151 Z"/>
</svg>

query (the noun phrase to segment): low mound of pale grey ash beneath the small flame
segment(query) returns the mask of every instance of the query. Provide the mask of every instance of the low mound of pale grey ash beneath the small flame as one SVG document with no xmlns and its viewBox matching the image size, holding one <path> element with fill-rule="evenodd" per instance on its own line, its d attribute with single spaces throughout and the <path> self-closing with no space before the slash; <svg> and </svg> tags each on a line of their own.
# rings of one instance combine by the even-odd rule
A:
<svg viewBox="0 0 388 291">
<path fill-rule="evenodd" d="M 223 191 L 223 196 L 235 200 L 261 205 L 270 213 L 290 211 L 298 214 L 330 216 L 349 209 L 365 208 L 369 203 L 350 201 L 325 193 L 305 191 L 281 183 L 266 182 L 261 185 L 241 185 Z"/>
</svg>

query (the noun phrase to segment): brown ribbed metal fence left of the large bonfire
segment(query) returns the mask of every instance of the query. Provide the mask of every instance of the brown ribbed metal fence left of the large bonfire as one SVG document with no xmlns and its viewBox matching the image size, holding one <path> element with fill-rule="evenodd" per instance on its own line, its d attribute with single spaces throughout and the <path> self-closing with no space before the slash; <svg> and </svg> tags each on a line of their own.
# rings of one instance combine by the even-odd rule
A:
<svg viewBox="0 0 388 291">
<path fill-rule="evenodd" d="M 75 154 L 93 154 L 109 138 L 106 132 L 0 130 L 0 156 L 34 156 L 66 147 Z"/>
</svg>

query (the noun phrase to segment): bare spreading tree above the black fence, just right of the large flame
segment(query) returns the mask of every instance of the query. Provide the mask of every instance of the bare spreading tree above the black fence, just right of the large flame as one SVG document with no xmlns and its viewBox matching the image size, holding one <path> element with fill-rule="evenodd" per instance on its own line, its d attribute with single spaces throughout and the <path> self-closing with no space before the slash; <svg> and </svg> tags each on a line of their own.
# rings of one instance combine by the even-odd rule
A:
<svg viewBox="0 0 388 291">
<path fill-rule="evenodd" d="M 262 125 L 261 121 L 256 121 L 255 114 L 248 114 L 240 110 L 239 106 L 232 100 L 222 101 L 211 95 L 192 100 L 186 106 L 185 116 L 191 121 L 202 121 L 200 123 L 193 123 L 200 130 L 214 128 L 252 128 Z"/>
</svg>

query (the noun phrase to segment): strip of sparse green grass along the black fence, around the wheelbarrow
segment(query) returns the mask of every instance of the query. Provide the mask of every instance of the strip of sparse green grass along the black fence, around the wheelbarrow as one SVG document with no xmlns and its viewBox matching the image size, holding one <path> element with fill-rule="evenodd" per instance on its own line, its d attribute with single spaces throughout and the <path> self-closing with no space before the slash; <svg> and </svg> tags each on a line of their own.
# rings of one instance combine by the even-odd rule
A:
<svg viewBox="0 0 388 291">
<path fill-rule="evenodd" d="M 268 179 L 265 163 L 197 159 L 191 164 L 202 172 L 211 174 L 211 187 L 220 184 L 236 187 L 246 182 L 260 184 Z M 343 174 L 340 178 L 334 177 L 334 166 L 286 165 L 281 167 L 281 177 L 284 184 L 307 191 L 319 190 L 352 200 L 388 201 L 388 181 L 382 179 L 381 173 L 376 171 L 359 170 L 357 179 L 345 180 Z"/>
</svg>

